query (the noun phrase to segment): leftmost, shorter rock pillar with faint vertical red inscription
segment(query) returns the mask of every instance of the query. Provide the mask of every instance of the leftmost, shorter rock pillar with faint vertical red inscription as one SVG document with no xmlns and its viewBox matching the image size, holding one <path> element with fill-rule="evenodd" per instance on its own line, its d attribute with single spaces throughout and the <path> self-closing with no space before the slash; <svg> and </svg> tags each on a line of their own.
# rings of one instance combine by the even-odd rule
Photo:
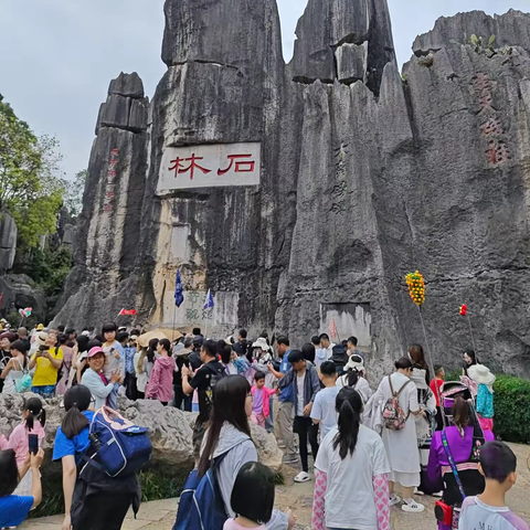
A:
<svg viewBox="0 0 530 530">
<path fill-rule="evenodd" d="M 149 102 L 138 74 L 113 80 L 102 104 L 88 163 L 83 212 L 75 242 L 75 268 L 55 318 L 81 327 L 114 320 L 136 305 L 140 219 L 147 172 Z M 80 289 L 80 285 L 82 285 Z"/>
</svg>

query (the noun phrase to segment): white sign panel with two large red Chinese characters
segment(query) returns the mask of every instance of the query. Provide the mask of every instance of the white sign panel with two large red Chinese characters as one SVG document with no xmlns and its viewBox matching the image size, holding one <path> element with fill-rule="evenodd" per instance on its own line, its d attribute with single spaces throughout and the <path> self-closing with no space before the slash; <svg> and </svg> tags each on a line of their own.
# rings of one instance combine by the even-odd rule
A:
<svg viewBox="0 0 530 530">
<path fill-rule="evenodd" d="M 162 155 L 158 194 L 171 190 L 259 184 L 261 144 L 168 147 Z"/>
</svg>

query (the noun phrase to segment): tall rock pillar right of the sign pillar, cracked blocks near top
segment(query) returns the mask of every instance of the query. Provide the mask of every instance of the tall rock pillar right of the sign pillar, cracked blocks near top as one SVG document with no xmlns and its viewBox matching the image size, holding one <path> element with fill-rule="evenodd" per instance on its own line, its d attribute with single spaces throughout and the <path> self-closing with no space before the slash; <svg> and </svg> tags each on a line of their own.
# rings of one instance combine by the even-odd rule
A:
<svg viewBox="0 0 530 530">
<path fill-rule="evenodd" d="M 404 119 L 404 130 L 409 123 L 386 2 L 309 0 L 296 34 L 297 215 L 276 325 L 300 344 L 329 333 L 332 319 L 341 339 L 357 335 L 373 360 L 389 359 L 401 333 L 373 203 L 383 167 L 379 119 Z"/>
</svg>

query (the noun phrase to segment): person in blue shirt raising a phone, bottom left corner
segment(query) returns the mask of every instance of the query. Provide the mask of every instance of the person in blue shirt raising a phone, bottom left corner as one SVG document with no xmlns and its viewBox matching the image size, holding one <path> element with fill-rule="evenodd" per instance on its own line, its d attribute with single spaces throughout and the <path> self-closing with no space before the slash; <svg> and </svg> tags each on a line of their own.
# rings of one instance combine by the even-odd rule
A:
<svg viewBox="0 0 530 530">
<path fill-rule="evenodd" d="M 19 476 L 17 456 L 13 449 L 0 451 L 0 528 L 18 527 L 28 517 L 33 508 L 42 500 L 41 474 L 39 468 L 44 459 L 44 452 L 39 449 L 36 455 L 29 455 Z M 19 481 L 28 469 L 31 469 L 33 481 L 31 496 L 20 497 L 12 495 Z"/>
</svg>

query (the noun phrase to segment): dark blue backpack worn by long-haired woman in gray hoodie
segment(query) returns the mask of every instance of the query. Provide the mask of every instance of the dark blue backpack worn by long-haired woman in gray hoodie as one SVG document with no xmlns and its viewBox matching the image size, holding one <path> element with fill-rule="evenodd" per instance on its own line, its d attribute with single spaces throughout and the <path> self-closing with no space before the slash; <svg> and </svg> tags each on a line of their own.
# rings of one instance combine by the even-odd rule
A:
<svg viewBox="0 0 530 530">
<path fill-rule="evenodd" d="M 203 477 L 199 477 L 197 469 L 190 473 L 180 495 L 173 530 L 223 529 L 229 515 L 215 475 L 221 462 L 229 453 L 230 451 L 214 458 Z"/>
</svg>

